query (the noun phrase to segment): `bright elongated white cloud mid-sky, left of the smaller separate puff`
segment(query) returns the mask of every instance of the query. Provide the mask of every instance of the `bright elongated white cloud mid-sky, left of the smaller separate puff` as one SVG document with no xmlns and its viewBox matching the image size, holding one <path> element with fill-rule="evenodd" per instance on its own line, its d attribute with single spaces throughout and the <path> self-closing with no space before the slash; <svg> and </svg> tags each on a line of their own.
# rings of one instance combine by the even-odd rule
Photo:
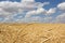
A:
<svg viewBox="0 0 65 43">
<path fill-rule="evenodd" d="M 47 11 L 43 8 L 39 8 L 37 10 L 27 12 L 25 17 L 31 17 L 31 15 L 44 14 Z"/>
</svg>

